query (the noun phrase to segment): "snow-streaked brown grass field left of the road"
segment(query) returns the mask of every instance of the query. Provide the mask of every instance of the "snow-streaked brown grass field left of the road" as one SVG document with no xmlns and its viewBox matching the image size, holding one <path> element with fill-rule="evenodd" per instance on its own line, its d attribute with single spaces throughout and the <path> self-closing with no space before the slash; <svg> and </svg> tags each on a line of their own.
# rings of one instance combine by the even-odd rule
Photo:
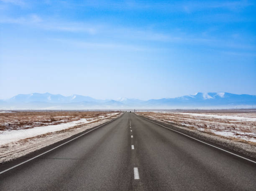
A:
<svg viewBox="0 0 256 191">
<path fill-rule="evenodd" d="M 119 112 L 1 113 L 0 163 L 26 155 L 118 116 Z"/>
</svg>

